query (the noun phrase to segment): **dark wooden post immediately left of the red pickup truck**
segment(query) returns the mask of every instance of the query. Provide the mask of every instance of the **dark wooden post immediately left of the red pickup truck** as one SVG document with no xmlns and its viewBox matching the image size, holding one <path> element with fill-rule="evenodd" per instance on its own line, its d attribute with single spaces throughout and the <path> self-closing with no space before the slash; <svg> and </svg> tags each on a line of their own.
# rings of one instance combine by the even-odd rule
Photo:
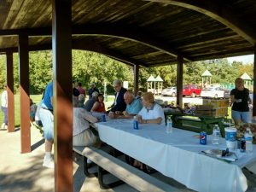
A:
<svg viewBox="0 0 256 192">
<path fill-rule="evenodd" d="M 177 105 L 183 107 L 183 57 L 177 56 Z"/>
</svg>

